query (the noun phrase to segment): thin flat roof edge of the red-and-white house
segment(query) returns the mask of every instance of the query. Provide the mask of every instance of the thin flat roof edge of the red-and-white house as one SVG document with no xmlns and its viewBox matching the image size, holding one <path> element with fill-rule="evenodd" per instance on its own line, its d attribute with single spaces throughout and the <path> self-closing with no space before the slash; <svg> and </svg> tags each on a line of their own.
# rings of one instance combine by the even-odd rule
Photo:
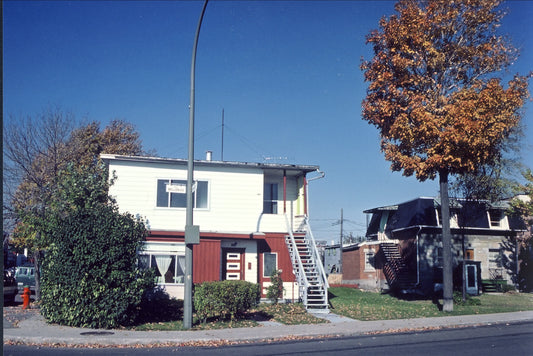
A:
<svg viewBox="0 0 533 356">
<path fill-rule="evenodd" d="M 188 164 L 187 159 L 181 158 L 162 158 L 162 157 L 143 157 L 143 156 L 122 156 L 115 154 L 101 154 L 100 157 L 104 161 L 129 161 L 129 162 L 144 162 L 144 163 L 159 163 L 183 165 Z M 194 160 L 195 166 L 200 167 L 234 167 L 234 168 L 259 168 L 263 170 L 285 170 L 293 173 L 299 172 L 314 172 L 320 169 L 315 165 L 302 164 L 279 164 L 279 163 L 254 163 L 254 162 L 234 162 L 234 161 L 211 161 L 211 160 Z"/>
</svg>

